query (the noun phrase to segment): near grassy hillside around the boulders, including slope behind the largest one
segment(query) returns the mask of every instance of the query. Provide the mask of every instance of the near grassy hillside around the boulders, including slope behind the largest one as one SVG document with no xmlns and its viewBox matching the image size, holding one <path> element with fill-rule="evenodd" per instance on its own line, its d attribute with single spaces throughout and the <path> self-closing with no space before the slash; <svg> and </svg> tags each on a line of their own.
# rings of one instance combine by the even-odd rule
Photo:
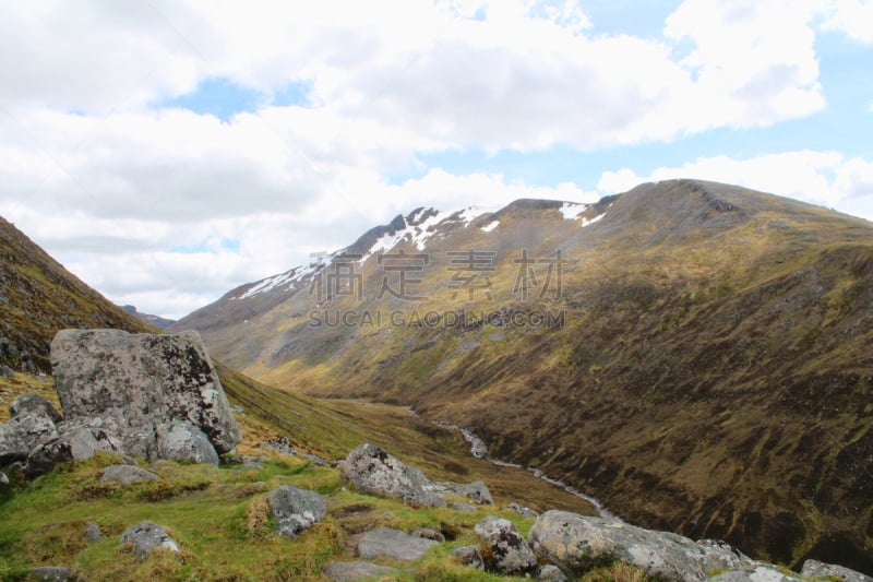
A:
<svg viewBox="0 0 873 582">
<path fill-rule="evenodd" d="M 499 471 L 466 454 L 455 433 L 412 418 L 403 409 L 350 402 L 314 402 L 259 384 L 224 366 L 219 373 L 237 414 L 241 454 L 263 456 L 263 468 L 240 465 L 147 466 L 159 482 L 131 486 L 101 484 L 101 468 L 119 462 L 111 454 L 64 465 L 31 484 L 0 489 L 0 580 L 26 580 L 39 566 L 75 568 L 87 580 L 319 580 L 330 560 L 355 559 L 355 536 L 384 525 L 412 531 L 431 527 L 449 542 L 419 562 L 400 565 L 400 580 L 506 580 L 452 561 L 451 548 L 475 543 L 474 524 L 487 514 L 513 520 L 523 532 L 533 520 L 500 507 L 511 500 L 539 509 L 561 507 L 590 513 L 590 507 L 535 478 L 526 471 Z M 16 375 L 0 379 L 0 394 L 12 400 L 36 392 L 57 403 L 50 379 Z M 3 407 L 5 408 L 5 407 Z M 3 411 L 5 412 L 5 411 Z M 4 420 L 5 418 L 0 418 Z M 360 442 L 379 442 L 422 467 L 432 478 L 485 479 L 495 508 L 477 512 L 414 509 L 403 503 L 346 490 L 338 471 L 318 466 L 301 455 L 274 453 L 261 444 L 284 436 L 302 452 L 332 460 Z M 15 476 L 13 475 L 13 478 Z M 292 484 L 327 496 L 328 516 L 296 541 L 279 538 L 264 513 L 264 497 Z M 144 562 L 118 545 L 121 533 L 151 520 L 168 526 L 182 548 L 181 560 L 157 554 Z M 89 544 L 88 523 L 104 539 Z M 626 567 L 619 567 L 626 569 Z M 644 580 L 633 572 L 635 580 Z M 611 580 L 607 572 L 589 580 Z"/>
</svg>

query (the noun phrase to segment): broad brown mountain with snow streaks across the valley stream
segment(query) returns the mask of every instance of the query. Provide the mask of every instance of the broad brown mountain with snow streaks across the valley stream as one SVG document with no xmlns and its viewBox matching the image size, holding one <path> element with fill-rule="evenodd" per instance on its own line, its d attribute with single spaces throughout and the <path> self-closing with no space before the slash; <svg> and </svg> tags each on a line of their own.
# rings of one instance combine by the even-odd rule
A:
<svg viewBox="0 0 873 582">
<path fill-rule="evenodd" d="M 464 426 L 635 523 L 873 570 L 865 221 L 695 180 L 418 209 L 189 328 L 270 384 Z"/>
</svg>

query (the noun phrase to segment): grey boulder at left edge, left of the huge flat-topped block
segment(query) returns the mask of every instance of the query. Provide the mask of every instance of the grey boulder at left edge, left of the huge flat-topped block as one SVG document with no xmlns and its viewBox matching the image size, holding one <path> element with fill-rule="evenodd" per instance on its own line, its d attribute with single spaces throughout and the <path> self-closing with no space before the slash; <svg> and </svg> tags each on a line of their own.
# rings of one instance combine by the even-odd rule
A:
<svg viewBox="0 0 873 582">
<path fill-rule="evenodd" d="M 9 405 L 10 418 L 0 424 L 0 466 L 24 461 L 35 448 L 58 437 L 60 414 L 43 396 L 26 394 Z"/>
</svg>

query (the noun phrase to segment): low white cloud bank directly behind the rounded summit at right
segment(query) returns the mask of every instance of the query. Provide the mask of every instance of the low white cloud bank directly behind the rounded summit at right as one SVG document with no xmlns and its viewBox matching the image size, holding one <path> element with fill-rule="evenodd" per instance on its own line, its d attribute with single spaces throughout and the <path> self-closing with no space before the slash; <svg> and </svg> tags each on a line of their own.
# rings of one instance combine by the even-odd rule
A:
<svg viewBox="0 0 873 582">
<path fill-rule="evenodd" d="M 856 207 L 852 199 L 873 202 L 873 162 L 846 159 L 837 152 L 798 151 L 748 159 L 702 157 L 678 167 L 660 167 L 648 176 L 629 168 L 606 171 L 598 182 L 602 192 L 624 192 L 634 186 L 675 178 L 697 178 L 736 183 L 821 204 L 837 210 Z M 852 212 L 858 214 L 857 211 Z M 873 214 L 865 216 L 873 219 Z"/>
</svg>

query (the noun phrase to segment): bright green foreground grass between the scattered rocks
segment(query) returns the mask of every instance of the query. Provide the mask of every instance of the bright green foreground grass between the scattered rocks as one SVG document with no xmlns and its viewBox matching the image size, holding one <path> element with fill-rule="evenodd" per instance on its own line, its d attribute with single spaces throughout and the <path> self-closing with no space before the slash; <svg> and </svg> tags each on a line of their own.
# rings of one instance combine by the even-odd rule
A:
<svg viewBox="0 0 873 582">
<path fill-rule="evenodd" d="M 150 467 L 160 476 L 157 482 L 99 484 L 101 470 L 117 462 L 104 453 L 71 463 L 0 498 L 3 580 L 23 579 L 38 566 L 71 567 L 95 581 L 318 580 L 326 562 L 356 559 L 352 536 L 380 526 L 431 527 L 447 538 L 416 563 L 376 560 L 404 570 L 402 580 L 507 580 L 455 562 L 451 549 L 477 545 L 473 527 L 489 514 L 512 520 L 524 535 L 533 524 L 497 508 L 470 513 L 411 508 L 359 494 L 342 487 L 336 470 L 294 458 L 258 471 L 159 462 Z M 285 484 L 322 492 L 328 507 L 325 520 L 294 541 L 273 533 L 264 502 L 267 491 Z M 169 528 L 180 556 L 158 551 L 139 561 L 119 545 L 127 527 L 146 520 Z M 85 539 L 92 522 L 104 535 L 94 544 Z"/>
</svg>

